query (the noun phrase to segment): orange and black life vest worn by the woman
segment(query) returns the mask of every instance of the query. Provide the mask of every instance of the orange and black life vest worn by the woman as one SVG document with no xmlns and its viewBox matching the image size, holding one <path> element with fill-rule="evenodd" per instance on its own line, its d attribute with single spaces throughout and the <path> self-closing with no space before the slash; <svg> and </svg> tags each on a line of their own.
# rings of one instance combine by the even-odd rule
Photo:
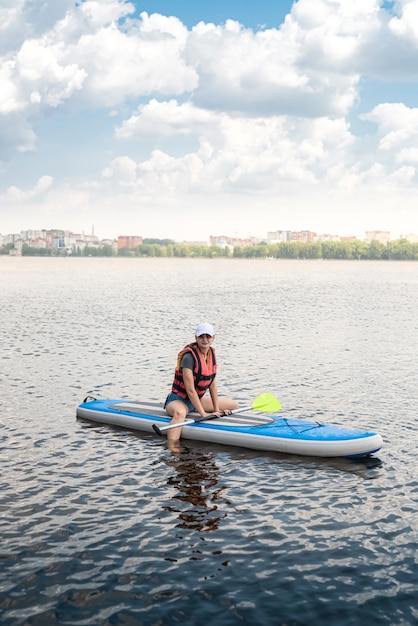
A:
<svg viewBox="0 0 418 626">
<path fill-rule="evenodd" d="M 183 380 L 183 373 L 180 370 L 181 359 L 187 352 L 191 352 L 194 359 L 193 378 L 194 388 L 199 398 L 205 395 L 216 376 L 216 356 L 214 348 L 209 348 L 208 359 L 206 361 L 204 355 L 197 348 L 197 344 L 193 343 L 181 350 L 177 356 L 177 367 L 174 372 L 174 381 L 172 391 L 180 398 L 186 399 L 186 387 Z"/>
</svg>

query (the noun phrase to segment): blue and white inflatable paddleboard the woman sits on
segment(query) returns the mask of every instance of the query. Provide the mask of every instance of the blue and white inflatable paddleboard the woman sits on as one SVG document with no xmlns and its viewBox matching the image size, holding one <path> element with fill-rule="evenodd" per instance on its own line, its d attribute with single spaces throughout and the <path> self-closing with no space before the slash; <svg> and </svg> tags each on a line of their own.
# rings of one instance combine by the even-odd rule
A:
<svg viewBox="0 0 418 626">
<path fill-rule="evenodd" d="M 188 418 L 197 418 L 189 414 Z M 87 397 L 77 417 L 144 432 L 170 423 L 161 404 Z M 369 456 L 383 445 L 378 433 L 267 415 L 248 410 L 231 416 L 198 421 L 182 427 L 182 437 L 210 443 L 318 457 Z"/>
</svg>

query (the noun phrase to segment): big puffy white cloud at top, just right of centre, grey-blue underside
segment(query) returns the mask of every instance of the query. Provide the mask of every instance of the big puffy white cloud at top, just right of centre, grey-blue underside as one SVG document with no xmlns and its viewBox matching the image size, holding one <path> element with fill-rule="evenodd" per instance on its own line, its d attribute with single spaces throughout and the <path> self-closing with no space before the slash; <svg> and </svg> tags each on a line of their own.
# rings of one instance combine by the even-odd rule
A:
<svg viewBox="0 0 418 626">
<path fill-rule="evenodd" d="M 317 41 L 321 41 L 322 32 Z M 305 32 L 291 16 L 280 29 L 254 33 L 227 22 L 196 26 L 186 55 L 195 59 L 199 85 L 194 102 L 215 110 L 306 117 L 342 115 L 353 105 L 357 72 L 320 70 L 304 58 Z M 311 44 L 313 45 L 313 44 Z"/>
</svg>

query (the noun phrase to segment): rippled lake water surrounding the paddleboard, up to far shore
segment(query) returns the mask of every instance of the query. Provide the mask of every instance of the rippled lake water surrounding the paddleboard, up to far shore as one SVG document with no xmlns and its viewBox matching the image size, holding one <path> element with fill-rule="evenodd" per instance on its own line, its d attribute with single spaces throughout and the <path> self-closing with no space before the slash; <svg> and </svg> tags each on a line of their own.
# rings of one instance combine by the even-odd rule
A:
<svg viewBox="0 0 418 626">
<path fill-rule="evenodd" d="M 0 257 L 0 623 L 418 624 L 418 263 Z M 365 460 L 76 419 L 163 401 L 215 325 L 222 394 L 378 431 Z"/>
</svg>

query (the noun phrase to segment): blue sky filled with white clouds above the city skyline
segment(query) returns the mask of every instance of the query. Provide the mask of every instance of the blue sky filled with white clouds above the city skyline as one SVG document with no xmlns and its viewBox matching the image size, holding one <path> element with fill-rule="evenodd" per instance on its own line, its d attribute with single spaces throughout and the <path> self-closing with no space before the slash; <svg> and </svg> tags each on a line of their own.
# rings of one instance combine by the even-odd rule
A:
<svg viewBox="0 0 418 626">
<path fill-rule="evenodd" d="M 0 234 L 418 234 L 418 0 L 0 0 Z"/>
</svg>

